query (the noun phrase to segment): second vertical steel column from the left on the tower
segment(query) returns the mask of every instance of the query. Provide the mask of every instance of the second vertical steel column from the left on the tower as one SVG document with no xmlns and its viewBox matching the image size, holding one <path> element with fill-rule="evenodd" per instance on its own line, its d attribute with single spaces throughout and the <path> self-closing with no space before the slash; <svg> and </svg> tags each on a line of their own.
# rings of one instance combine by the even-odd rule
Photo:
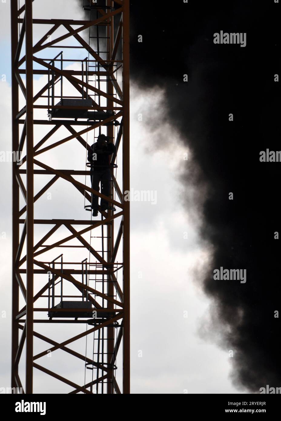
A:
<svg viewBox="0 0 281 421">
<path fill-rule="evenodd" d="M 25 0 L 26 95 L 27 95 L 27 314 L 26 393 L 33 383 L 33 44 L 32 0 Z"/>
</svg>

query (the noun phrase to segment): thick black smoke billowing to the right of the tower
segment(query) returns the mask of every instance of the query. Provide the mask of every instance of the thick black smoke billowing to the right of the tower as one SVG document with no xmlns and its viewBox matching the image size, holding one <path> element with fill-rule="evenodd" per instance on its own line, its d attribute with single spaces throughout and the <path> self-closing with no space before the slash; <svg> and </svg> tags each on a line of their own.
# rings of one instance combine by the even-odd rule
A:
<svg viewBox="0 0 281 421">
<path fill-rule="evenodd" d="M 260 162 L 260 151 L 280 149 L 276 4 L 131 3 L 131 77 L 166 90 L 169 118 L 201 168 L 198 197 L 208 186 L 201 236 L 212 244 L 213 260 L 198 283 L 212 306 L 201 331 L 233 351 L 240 391 L 279 387 L 280 240 L 274 233 L 280 231 L 281 164 Z M 221 30 L 246 32 L 247 45 L 214 44 Z M 181 182 L 188 188 L 188 176 Z M 220 267 L 246 269 L 247 281 L 214 280 Z"/>
</svg>

